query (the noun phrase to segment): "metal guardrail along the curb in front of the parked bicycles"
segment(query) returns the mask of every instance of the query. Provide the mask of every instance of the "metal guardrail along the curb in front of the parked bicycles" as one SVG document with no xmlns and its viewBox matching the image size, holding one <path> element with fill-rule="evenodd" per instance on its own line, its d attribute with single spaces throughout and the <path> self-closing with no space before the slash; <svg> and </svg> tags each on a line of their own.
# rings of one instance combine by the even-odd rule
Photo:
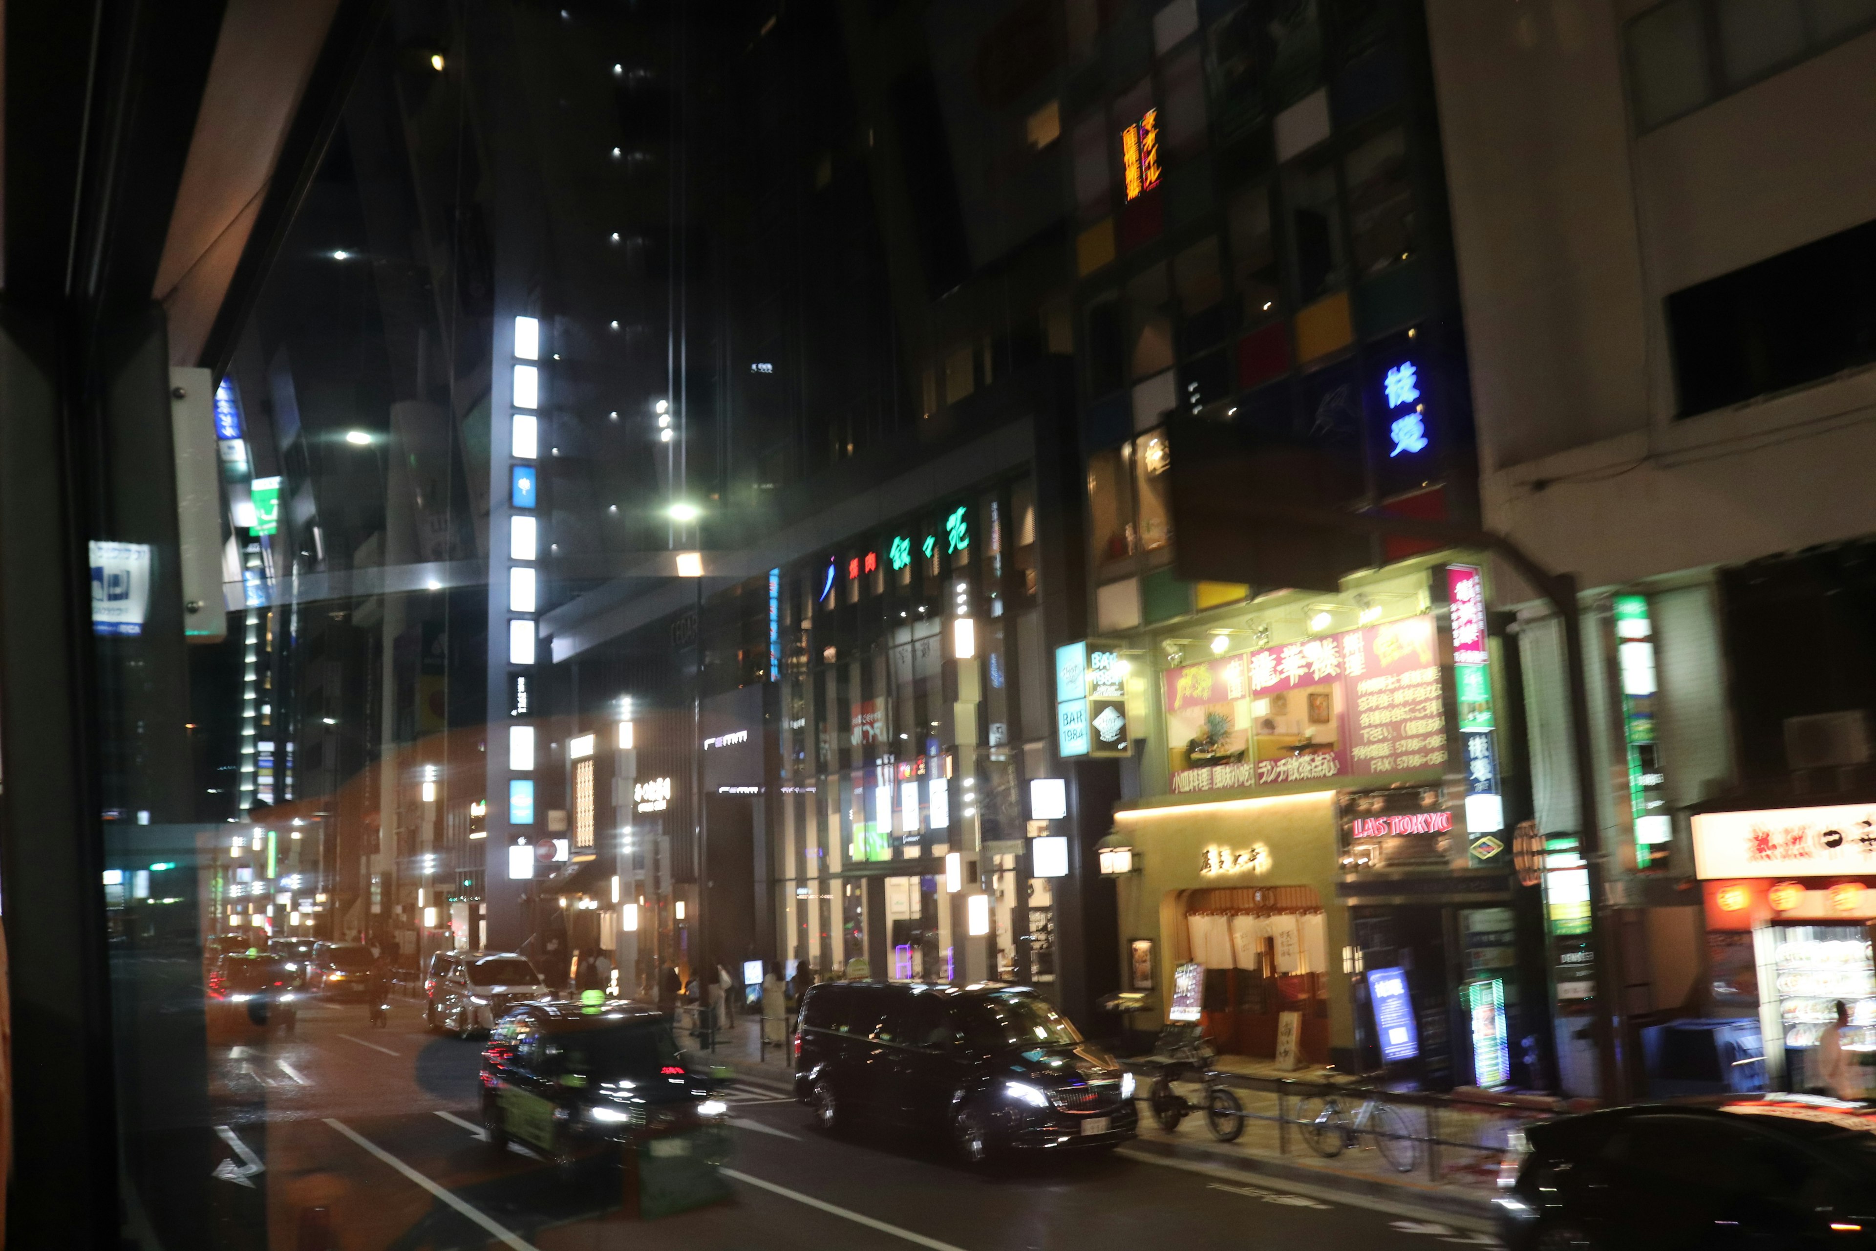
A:
<svg viewBox="0 0 1876 1251">
<path fill-rule="evenodd" d="M 1139 1077 L 1156 1077 L 1154 1071 L 1159 1065 L 1154 1065 L 1150 1062 L 1148 1063 L 1133 1062 L 1127 1067 Z M 1523 1123 L 1548 1120 L 1551 1116 L 1568 1110 L 1568 1105 L 1565 1101 L 1533 1103 L 1533 1101 L 1491 1099 L 1491 1097 L 1461 1099 L 1454 1095 L 1435 1095 L 1424 1092 L 1384 1090 L 1368 1084 L 1360 1078 L 1347 1078 L 1339 1082 L 1338 1080 L 1311 1082 L 1300 1078 L 1255 1077 L 1249 1073 L 1229 1073 L 1223 1069 L 1208 1069 L 1204 1073 L 1195 1073 L 1193 1077 L 1189 1077 L 1188 1084 L 1204 1086 L 1206 1093 L 1210 1093 L 1218 1086 L 1223 1086 L 1234 1092 L 1242 1090 L 1242 1092 L 1276 1095 L 1274 1112 L 1253 1110 L 1244 1107 L 1242 1101 L 1238 1101 L 1236 1110 L 1227 1108 L 1221 1114 L 1234 1116 L 1240 1122 L 1257 1120 L 1257 1122 L 1276 1123 L 1278 1152 L 1281 1155 L 1291 1153 L 1293 1129 L 1319 1123 L 1317 1120 L 1302 1120 L 1294 1114 L 1304 1105 L 1304 1101 L 1336 1099 L 1341 1108 L 1341 1114 L 1345 1116 L 1345 1123 L 1358 1125 L 1353 1129 L 1356 1138 L 1360 1137 L 1398 1138 L 1426 1148 L 1426 1176 L 1430 1182 L 1435 1183 L 1446 1182 L 1443 1172 L 1445 1165 L 1441 1161 L 1441 1148 L 1448 1148 L 1452 1152 L 1482 1153 L 1482 1155 L 1491 1155 L 1491 1153 L 1503 1155 L 1503 1152 L 1508 1146 L 1508 1144 L 1480 1142 L 1476 1138 L 1461 1140 L 1458 1137 L 1452 1137 L 1450 1129 L 1456 1123 L 1463 1123 L 1465 1116 L 1491 1118 L 1499 1122 L 1516 1120 L 1520 1122 L 1521 1127 Z M 1142 1101 L 1150 1099 L 1150 1095 L 1144 1090 L 1137 1097 Z M 1418 1120 L 1424 1125 L 1424 1133 L 1394 1133 L 1388 1129 L 1379 1129 L 1373 1123 L 1358 1123 L 1362 1107 L 1368 1101 L 1390 1105 L 1396 1108 L 1418 1108 L 1420 1112 Z M 1197 1116 L 1206 1114 L 1204 1103 L 1191 1105 L 1189 1114 Z M 1343 1133 L 1341 1125 L 1343 1122 L 1341 1118 L 1338 1118 L 1336 1133 Z M 1418 1163 L 1409 1165 L 1407 1170 L 1413 1170 L 1415 1167 L 1418 1167 Z"/>
</svg>

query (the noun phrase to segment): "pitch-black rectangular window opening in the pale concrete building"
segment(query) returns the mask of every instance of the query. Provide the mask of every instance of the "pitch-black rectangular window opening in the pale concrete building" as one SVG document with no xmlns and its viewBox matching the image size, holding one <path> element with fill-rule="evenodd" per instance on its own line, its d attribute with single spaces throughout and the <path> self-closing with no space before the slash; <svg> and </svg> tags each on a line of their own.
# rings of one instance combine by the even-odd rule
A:
<svg viewBox="0 0 1876 1251">
<path fill-rule="evenodd" d="M 1876 221 L 1668 296 L 1679 416 L 1876 360 Z"/>
</svg>

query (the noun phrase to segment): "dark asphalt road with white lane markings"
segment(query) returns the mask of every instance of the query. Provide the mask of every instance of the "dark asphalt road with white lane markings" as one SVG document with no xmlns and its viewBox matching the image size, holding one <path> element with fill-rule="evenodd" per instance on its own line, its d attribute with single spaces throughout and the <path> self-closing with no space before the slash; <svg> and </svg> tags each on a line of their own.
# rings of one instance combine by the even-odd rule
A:
<svg viewBox="0 0 1876 1251">
<path fill-rule="evenodd" d="M 604 1157 L 565 1174 L 495 1153 L 477 1127 L 478 1062 L 478 1041 L 426 1033 L 405 1002 L 385 1030 L 364 1005 L 313 1005 L 293 1037 L 212 1039 L 216 1242 L 300 1247 L 326 1221 L 325 1245 L 345 1251 L 1497 1245 L 1450 1219 L 1126 1153 L 977 1172 L 936 1144 L 824 1135 L 754 1088 L 728 1095 L 732 1197 L 642 1221 Z"/>
</svg>

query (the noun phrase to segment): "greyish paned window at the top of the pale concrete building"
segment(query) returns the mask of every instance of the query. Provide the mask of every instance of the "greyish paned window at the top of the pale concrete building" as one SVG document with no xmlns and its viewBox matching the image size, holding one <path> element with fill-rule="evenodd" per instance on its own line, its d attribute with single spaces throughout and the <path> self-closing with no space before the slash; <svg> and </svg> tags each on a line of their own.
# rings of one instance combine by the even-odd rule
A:
<svg viewBox="0 0 1876 1251">
<path fill-rule="evenodd" d="M 1628 23 L 1636 129 L 1702 105 L 1876 26 L 1876 0 L 1668 0 Z"/>
</svg>

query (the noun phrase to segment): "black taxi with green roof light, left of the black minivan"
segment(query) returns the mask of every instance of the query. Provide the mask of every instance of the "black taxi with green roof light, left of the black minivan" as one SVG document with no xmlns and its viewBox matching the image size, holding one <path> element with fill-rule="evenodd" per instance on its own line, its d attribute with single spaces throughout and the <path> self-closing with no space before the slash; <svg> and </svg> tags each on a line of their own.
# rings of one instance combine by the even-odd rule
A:
<svg viewBox="0 0 1876 1251">
<path fill-rule="evenodd" d="M 687 1063 L 664 1013 L 623 1000 L 525 1003 L 482 1048 L 490 1144 L 507 1150 L 514 1138 L 563 1165 L 582 1144 L 647 1140 L 722 1159 L 728 1107 L 713 1088 Z"/>
</svg>

